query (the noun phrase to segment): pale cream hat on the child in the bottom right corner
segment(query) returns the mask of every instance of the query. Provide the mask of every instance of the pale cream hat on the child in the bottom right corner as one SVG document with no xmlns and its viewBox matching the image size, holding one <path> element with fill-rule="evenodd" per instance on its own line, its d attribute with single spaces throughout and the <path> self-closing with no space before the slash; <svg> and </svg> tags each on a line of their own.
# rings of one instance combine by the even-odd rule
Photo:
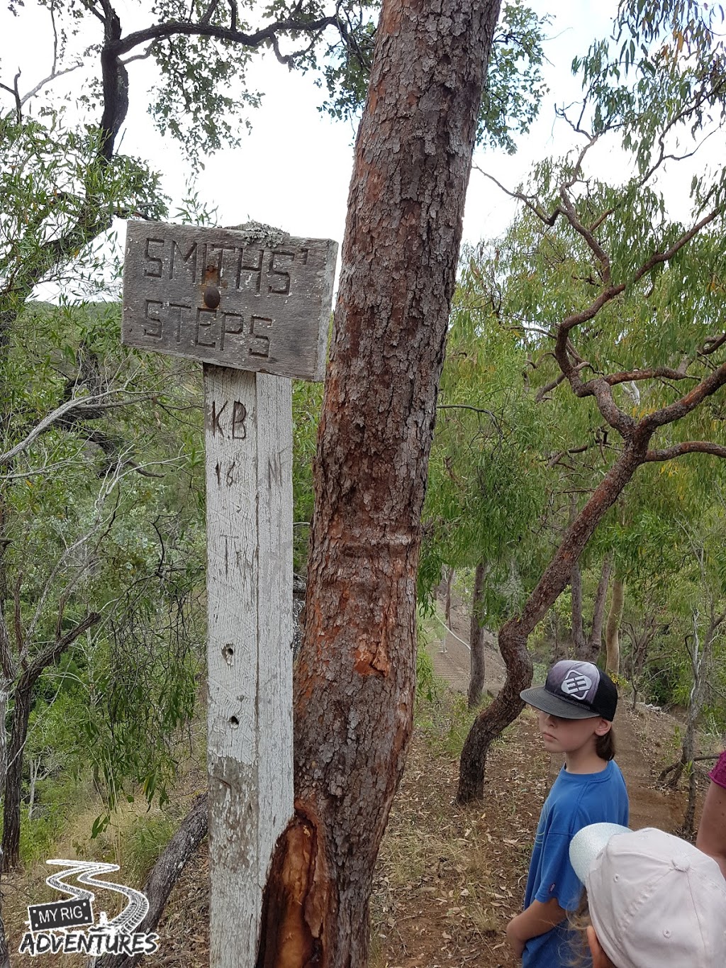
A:
<svg viewBox="0 0 726 968">
<path fill-rule="evenodd" d="M 726 880 L 692 844 L 651 827 L 590 824 L 572 838 L 570 862 L 617 968 L 726 966 Z"/>
</svg>

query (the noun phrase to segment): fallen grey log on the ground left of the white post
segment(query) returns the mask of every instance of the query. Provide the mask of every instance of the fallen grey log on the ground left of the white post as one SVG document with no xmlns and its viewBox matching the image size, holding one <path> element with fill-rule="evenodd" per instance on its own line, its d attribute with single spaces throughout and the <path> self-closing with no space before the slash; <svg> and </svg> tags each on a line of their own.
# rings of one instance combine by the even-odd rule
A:
<svg viewBox="0 0 726 968">
<path fill-rule="evenodd" d="M 207 834 L 207 795 L 199 794 L 173 837 L 166 844 L 159 860 L 149 874 L 143 886 L 143 892 L 149 899 L 149 910 L 137 929 L 145 934 L 156 931 L 157 924 L 164 914 L 168 895 L 181 876 L 187 863 L 194 857 L 197 847 Z M 117 954 L 105 954 L 101 958 L 92 958 L 88 968 L 133 968 L 141 960 L 142 955 L 130 955 L 119 958 Z M 2 965 L 0 964 L 0 968 Z"/>
</svg>

